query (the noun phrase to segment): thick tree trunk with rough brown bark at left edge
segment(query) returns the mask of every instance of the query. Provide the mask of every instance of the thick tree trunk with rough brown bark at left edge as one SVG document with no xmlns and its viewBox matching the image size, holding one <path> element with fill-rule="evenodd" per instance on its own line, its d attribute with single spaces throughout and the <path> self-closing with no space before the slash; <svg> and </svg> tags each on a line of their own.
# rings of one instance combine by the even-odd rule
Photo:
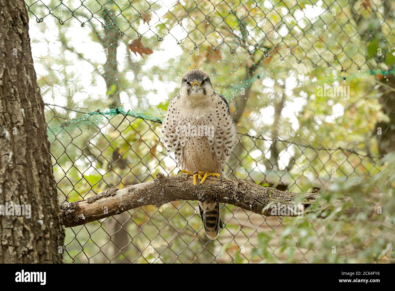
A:
<svg viewBox="0 0 395 291">
<path fill-rule="evenodd" d="M 0 204 L 30 204 L 31 218 L 0 215 L 0 262 L 60 263 L 64 229 L 44 104 L 23 0 L 0 0 Z"/>
</svg>

